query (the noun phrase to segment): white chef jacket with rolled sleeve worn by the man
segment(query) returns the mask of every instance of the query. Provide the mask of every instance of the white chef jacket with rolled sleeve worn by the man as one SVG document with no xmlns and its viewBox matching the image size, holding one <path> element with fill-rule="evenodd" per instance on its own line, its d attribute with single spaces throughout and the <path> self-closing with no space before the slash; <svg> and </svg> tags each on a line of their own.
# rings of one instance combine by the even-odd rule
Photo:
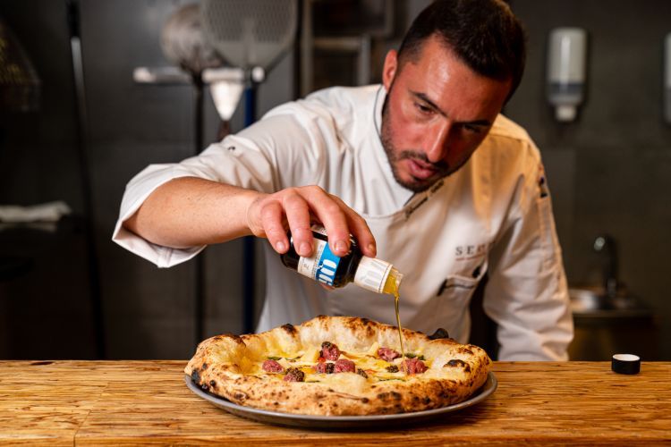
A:
<svg viewBox="0 0 671 447">
<path fill-rule="evenodd" d="M 369 224 L 378 257 L 402 274 L 404 327 L 438 327 L 460 342 L 471 329 L 468 303 L 488 273 L 484 308 L 498 324 L 499 358 L 566 359 L 573 337 L 547 184 L 536 148 L 499 115 L 467 164 L 425 192 L 394 179 L 379 138 L 381 86 L 332 88 L 280 105 L 259 122 L 180 164 L 152 164 L 129 182 L 113 240 L 159 267 L 203 247 L 170 249 L 122 227 L 159 185 L 197 176 L 274 192 L 319 185 Z M 350 284 L 326 291 L 280 262 L 264 244 L 267 291 L 257 330 L 319 314 L 365 316 L 395 325 L 393 299 Z"/>
</svg>

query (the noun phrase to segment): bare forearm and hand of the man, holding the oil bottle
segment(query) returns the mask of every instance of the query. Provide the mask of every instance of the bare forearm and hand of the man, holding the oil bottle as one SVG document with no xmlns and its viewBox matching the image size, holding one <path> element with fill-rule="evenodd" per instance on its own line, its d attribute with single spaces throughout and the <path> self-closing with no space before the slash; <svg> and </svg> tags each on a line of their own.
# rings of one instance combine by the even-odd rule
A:
<svg viewBox="0 0 671 447">
<path fill-rule="evenodd" d="M 312 216 L 324 224 L 336 255 L 347 254 L 352 232 L 364 254 L 375 256 L 375 240 L 363 218 L 317 186 L 266 194 L 218 181 L 180 177 L 154 190 L 123 226 L 153 244 L 174 249 L 254 235 L 268 238 L 278 253 L 289 249 L 288 228 L 296 251 L 310 256 Z"/>
</svg>

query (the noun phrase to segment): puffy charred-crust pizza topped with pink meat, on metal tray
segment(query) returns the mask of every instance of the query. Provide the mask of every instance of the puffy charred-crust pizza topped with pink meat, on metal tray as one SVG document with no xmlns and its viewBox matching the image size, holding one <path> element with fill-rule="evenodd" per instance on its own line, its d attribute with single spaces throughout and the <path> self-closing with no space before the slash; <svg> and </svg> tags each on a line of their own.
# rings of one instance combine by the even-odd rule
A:
<svg viewBox="0 0 671 447">
<path fill-rule="evenodd" d="M 239 405 L 305 415 L 365 416 L 467 400 L 491 360 L 481 348 L 354 316 L 317 316 L 265 333 L 201 342 L 184 369 L 203 390 Z"/>
</svg>

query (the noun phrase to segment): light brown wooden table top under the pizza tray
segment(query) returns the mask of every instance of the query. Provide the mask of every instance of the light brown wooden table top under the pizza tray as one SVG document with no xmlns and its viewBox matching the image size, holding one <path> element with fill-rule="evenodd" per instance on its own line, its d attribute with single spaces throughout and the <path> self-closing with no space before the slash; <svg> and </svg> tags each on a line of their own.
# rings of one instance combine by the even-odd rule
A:
<svg viewBox="0 0 671 447">
<path fill-rule="evenodd" d="M 606 362 L 498 362 L 486 401 L 385 431 L 268 426 L 217 409 L 184 361 L 0 361 L 0 443 L 304 445 L 671 443 L 671 362 L 616 375 Z"/>
</svg>

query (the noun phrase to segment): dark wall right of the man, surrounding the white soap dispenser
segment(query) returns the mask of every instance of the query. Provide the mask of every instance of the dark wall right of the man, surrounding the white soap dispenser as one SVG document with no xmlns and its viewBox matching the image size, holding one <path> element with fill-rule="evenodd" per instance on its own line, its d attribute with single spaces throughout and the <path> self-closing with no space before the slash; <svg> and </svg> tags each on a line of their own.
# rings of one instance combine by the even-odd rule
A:
<svg viewBox="0 0 671 447">
<path fill-rule="evenodd" d="M 671 2 L 514 0 L 529 35 L 522 86 L 505 112 L 541 148 L 569 282 L 599 283 L 592 242 L 618 242 L 620 280 L 655 308 L 660 356 L 671 358 L 671 125 L 663 121 L 662 55 Z M 548 33 L 588 31 L 587 98 L 561 124 L 545 96 Z"/>
</svg>

